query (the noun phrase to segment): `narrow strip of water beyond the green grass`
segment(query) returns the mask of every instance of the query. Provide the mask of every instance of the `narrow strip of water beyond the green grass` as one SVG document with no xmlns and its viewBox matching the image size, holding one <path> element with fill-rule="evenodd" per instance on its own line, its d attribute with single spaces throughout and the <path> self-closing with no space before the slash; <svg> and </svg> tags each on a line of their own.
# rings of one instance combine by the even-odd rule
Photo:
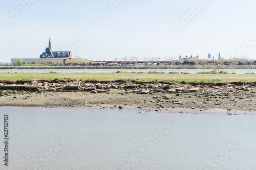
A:
<svg viewBox="0 0 256 170">
<path fill-rule="evenodd" d="M 125 72 L 148 72 L 148 71 L 157 71 L 157 72 L 189 72 L 190 74 L 196 74 L 197 72 L 210 72 L 213 69 L 0 69 L 0 73 L 10 72 L 10 73 L 40 73 L 47 74 L 50 71 L 59 72 L 62 74 L 70 73 L 112 73 L 116 71 L 125 71 Z M 256 73 L 256 69 L 218 69 L 218 72 L 228 72 L 232 74 L 246 74 L 246 73 Z"/>
</svg>

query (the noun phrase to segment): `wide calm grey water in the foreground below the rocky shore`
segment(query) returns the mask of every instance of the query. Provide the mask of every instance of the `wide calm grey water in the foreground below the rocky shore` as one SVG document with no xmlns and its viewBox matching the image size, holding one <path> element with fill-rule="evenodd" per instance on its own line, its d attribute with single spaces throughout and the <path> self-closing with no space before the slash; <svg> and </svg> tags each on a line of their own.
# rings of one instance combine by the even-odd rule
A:
<svg viewBox="0 0 256 170">
<path fill-rule="evenodd" d="M 255 169 L 256 115 L 0 107 L 0 169 Z M 0 154 L 4 156 L 4 143 Z M 2 157 L 3 159 L 3 157 Z"/>
</svg>

